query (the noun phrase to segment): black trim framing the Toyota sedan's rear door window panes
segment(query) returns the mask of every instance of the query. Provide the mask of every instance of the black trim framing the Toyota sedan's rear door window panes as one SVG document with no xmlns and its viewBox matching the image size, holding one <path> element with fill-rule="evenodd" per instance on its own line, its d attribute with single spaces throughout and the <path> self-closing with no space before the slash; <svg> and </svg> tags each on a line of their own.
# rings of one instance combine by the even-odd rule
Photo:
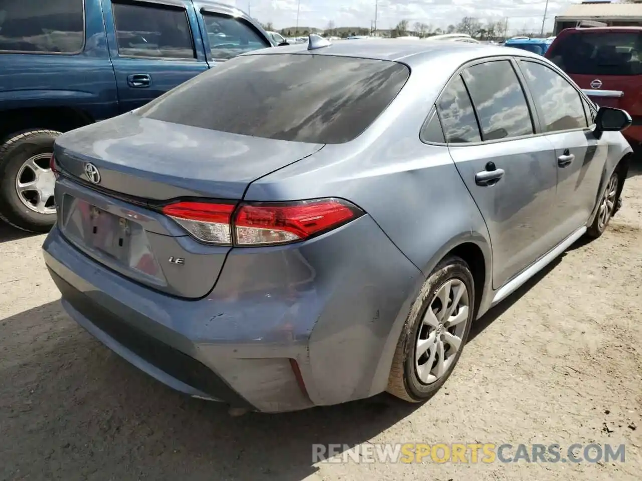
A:
<svg viewBox="0 0 642 481">
<path fill-rule="evenodd" d="M 473 112 L 475 114 L 475 119 L 477 121 L 477 128 L 480 134 L 480 139 L 477 142 L 445 142 L 445 143 L 439 143 L 439 142 L 428 142 L 426 140 L 422 140 L 424 144 L 428 145 L 434 145 L 434 146 L 453 146 L 453 147 L 468 147 L 468 146 L 480 146 L 480 145 L 486 145 L 486 144 L 498 144 L 499 142 L 512 142 L 514 140 L 523 140 L 523 139 L 532 139 L 534 137 L 540 137 L 542 135 L 546 135 L 546 132 L 543 132 L 541 129 L 541 121 L 539 119 L 539 112 L 535 110 L 535 103 L 532 97 L 532 94 L 530 90 L 528 90 L 528 86 L 525 83 L 525 78 L 523 76 L 523 73 L 521 72 L 521 69 L 519 69 L 519 65 L 517 65 L 517 58 L 525 58 L 525 59 L 530 59 L 532 57 L 530 56 L 511 56 L 511 55 L 494 55 L 494 56 L 485 56 L 485 57 L 480 57 L 476 58 L 474 60 L 469 60 L 468 62 L 465 62 L 464 64 L 460 65 L 458 69 L 453 73 L 451 78 L 446 82 L 446 85 L 444 85 L 444 88 L 440 90 L 439 94 L 437 95 L 437 101 L 435 101 L 435 105 L 437 105 L 439 99 L 441 96 L 444 94 L 444 92 L 449 89 L 453 81 L 456 80 L 456 78 L 460 77 L 462 79 L 462 82 L 464 83 L 464 87 L 466 89 L 466 92 L 468 92 L 468 86 L 466 85 L 466 82 L 464 80 L 464 77 L 462 76 L 462 72 L 465 71 L 465 69 L 468 69 L 469 67 L 473 67 L 473 65 L 478 65 L 480 63 L 487 63 L 487 62 L 498 62 L 501 60 L 508 60 L 511 64 L 511 67 L 513 68 L 513 71 L 515 72 L 517 76 L 517 81 L 521 85 L 522 92 L 525 95 L 526 99 L 526 105 L 528 106 L 528 112 L 530 114 L 530 119 L 532 122 L 533 126 L 533 131 L 534 133 L 528 133 L 526 135 L 519 135 L 517 137 L 506 137 L 505 139 L 491 139 L 491 140 L 483 140 L 483 134 L 482 134 L 482 128 L 479 124 L 479 117 L 477 114 L 477 108 L 474 105 L 473 99 L 470 96 L 470 93 L 468 92 L 468 98 L 471 102 L 471 105 L 473 106 Z M 438 117 L 438 115 L 437 115 Z M 441 119 L 440 119 L 441 121 Z M 425 122 L 424 122 L 425 124 Z M 424 124 L 422 124 L 422 130 L 424 128 Z M 444 126 L 442 124 L 442 130 Z M 421 131 L 422 131 L 421 130 Z M 421 139 L 421 131 L 420 131 L 420 139 Z"/>
</svg>

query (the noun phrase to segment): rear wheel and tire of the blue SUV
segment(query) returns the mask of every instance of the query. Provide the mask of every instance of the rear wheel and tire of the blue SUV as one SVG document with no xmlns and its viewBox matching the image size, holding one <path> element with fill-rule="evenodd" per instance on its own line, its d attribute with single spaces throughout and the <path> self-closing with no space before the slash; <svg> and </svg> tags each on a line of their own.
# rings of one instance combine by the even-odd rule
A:
<svg viewBox="0 0 642 481">
<path fill-rule="evenodd" d="M 0 219 L 22 230 L 48 232 L 56 221 L 55 176 L 49 169 L 60 132 L 33 130 L 0 145 Z"/>
</svg>

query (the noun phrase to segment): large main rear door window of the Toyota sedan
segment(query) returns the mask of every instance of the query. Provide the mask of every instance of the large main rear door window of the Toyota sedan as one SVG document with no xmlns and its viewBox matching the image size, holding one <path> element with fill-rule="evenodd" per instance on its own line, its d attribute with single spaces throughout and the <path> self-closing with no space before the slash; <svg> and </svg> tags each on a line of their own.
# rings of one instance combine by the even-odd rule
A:
<svg viewBox="0 0 642 481">
<path fill-rule="evenodd" d="M 508 60 L 478 63 L 465 69 L 462 76 L 479 117 L 483 140 L 534 132 L 524 90 Z"/>
</svg>

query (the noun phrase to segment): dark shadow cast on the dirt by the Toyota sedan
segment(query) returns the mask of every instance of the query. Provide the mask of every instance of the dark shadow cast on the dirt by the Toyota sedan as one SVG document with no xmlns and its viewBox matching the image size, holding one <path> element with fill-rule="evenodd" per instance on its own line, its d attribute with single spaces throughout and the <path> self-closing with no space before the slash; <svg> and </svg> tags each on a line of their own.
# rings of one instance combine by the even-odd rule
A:
<svg viewBox="0 0 642 481">
<path fill-rule="evenodd" d="M 479 319 L 471 339 L 557 262 Z M 130 366 L 58 301 L 0 321 L 0 332 L 1 350 L 11 353 L 0 359 L 0 478 L 300 481 L 318 469 L 313 444 L 365 443 L 422 406 L 381 394 L 231 418 L 225 406 L 187 398 Z"/>
</svg>

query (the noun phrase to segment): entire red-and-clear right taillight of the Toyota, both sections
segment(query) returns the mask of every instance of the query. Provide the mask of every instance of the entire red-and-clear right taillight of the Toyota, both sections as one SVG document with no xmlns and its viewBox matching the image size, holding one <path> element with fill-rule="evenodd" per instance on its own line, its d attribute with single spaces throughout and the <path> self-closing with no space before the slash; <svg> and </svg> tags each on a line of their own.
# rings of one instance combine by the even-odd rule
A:
<svg viewBox="0 0 642 481">
<path fill-rule="evenodd" d="M 364 214 L 343 199 L 229 203 L 180 201 L 162 209 L 201 242 L 220 246 L 270 246 L 304 241 Z"/>
</svg>

